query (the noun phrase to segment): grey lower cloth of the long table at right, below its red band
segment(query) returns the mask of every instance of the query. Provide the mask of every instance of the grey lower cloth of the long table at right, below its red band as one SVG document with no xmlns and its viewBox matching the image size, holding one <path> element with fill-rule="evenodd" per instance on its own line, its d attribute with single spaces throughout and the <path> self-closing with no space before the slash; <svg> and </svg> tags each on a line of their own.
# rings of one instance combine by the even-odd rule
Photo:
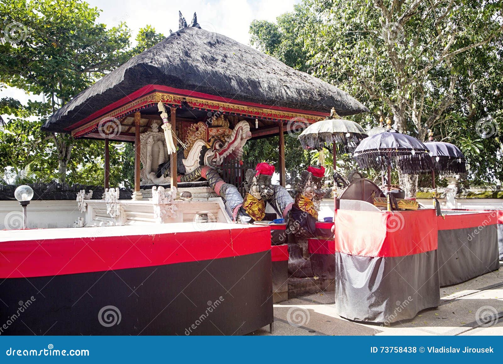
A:
<svg viewBox="0 0 503 364">
<path fill-rule="evenodd" d="M 499 269 L 496 225 L 439 230 L 440 285 L 451 285 Z"/>
</svg>

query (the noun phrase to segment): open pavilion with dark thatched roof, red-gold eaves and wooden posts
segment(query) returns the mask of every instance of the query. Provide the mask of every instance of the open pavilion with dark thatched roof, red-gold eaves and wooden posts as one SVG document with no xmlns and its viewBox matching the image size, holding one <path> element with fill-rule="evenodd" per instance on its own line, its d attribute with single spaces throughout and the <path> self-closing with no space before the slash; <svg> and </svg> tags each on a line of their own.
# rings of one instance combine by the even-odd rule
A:
<svg viewBox="0 0 503 364">
<path fill-rule="evenodd" d="M 284 139 L 288 121 L 313 123 L 329 115 L 368 111 L 356 99 L 328 83 L 288 67 L 277 59 L 226 36 L 186 27 L 131 58 L 75 96 L 43 125 L 75 138 L 104 139 L 105 187 L 108 141 L 135 142 L 135 191 L 140 190 L 140 138 L 160 124 L 157 103 L 170 112 L 173 130 L 181 123 L 206 120 L 213 112 L 250 125 L 251 137 L 280 135 L 280 175 L 285 184 Z M 100 122 L 120 126 L 107 135 Z M 237 120 L 236 120 L 237 121 Z M 178 124 L 177 124 L 178 123 Z M 171 155 L 171 185 L 177 185 L 177 155 Z M 141 195 L 141 194 L 140 194 Z"/>
</svg>

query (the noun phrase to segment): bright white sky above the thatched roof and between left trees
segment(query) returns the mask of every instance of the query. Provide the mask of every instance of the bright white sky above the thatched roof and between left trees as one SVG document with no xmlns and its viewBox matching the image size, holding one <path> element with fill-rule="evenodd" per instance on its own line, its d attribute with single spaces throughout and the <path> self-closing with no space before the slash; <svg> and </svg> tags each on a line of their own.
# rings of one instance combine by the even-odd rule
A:
<svg viewBox="0 0 503 364">
<path fill-rule="evenodd" d="M 194 12 L 197 13 L 201 28 L 217 32 L 249 45 L 249 25 L 255 19 L 275 21 L 279 15 L 292 11 L 300 0 L 184 0 L 180 3 L 166 0 L 87 0 L 92 7 L 103 10 L 98 21 L 107 27 L 126 22 L 132 30 L 132 39 L 139 28 L 149 24 L 157 32 L 170 34 L 170 29 L 178 30 L 180 10 L 190 24 Z M 28 99 L 41 97 L 27 95 L 22 90 L 8 88 L 0 90 L 0 98 L 13 97 L 26 104 Z M 2 115 L 4 119 L 8 115 Z"/>
</svg>

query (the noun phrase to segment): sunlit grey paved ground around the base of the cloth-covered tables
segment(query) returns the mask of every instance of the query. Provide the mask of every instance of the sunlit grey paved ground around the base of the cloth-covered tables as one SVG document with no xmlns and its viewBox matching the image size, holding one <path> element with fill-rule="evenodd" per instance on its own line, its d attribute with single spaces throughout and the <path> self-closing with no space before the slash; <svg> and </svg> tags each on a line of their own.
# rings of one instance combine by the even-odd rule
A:
<svg viewBox="0 0 503 364">
<path fill-rule="evenodd" d="M 412 320 L 389 326 L 349 321 L 334 313 L 334 293 L 318 293 L 274 305 L 273 335 L 503 335 L 503 266 L 469 281 L 440 288 L 441 305 L 420 312 Z M 486 307 L 487 306 L 487 307 Z M 287 313 L 297 315 L 299 327 L 289 324 Z M 490 326 L 477 320 L 491 313 Z M 290 315 L 291 316 L 291 315 Z M 290 318 L 292 321 L 292 318 Z M 269 326 L 251 335 L 270 335 Z"/>
</svg>

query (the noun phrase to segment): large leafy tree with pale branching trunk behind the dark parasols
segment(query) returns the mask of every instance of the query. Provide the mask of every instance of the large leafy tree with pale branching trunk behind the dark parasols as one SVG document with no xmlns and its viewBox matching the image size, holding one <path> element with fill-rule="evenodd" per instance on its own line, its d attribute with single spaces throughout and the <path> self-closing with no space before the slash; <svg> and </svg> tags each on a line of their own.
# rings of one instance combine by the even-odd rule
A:
<svg viewBox="0 0 503 364">
<path fill-rule="evenodd" d="M 452 111 L 471 111 L 475 105 L 460 95 L 467 82 L 464 60 L 479 52 L 484 67 L 487 55 L 501 46 L 500 1 L 356 3 L 306 3 L 324 20 L 300 32 L 316 76 L 341 82 L 369 100 L 372 111 L 392 114 L 401 132 L 421 140 L 428 129 L 451 127 Z M 401 182 L 415 195 L 416 177 L 404 175 Z"/>
</svg>

